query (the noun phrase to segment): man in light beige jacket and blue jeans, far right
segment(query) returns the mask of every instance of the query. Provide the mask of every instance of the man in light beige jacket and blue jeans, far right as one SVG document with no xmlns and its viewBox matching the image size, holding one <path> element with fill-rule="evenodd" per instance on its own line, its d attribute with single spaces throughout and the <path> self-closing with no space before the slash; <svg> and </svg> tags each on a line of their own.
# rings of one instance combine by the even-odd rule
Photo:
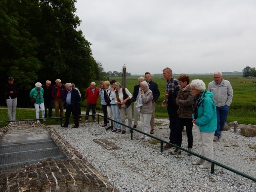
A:
<svg viewBox="0 0 256 192">
<path fill-rule="evenodd" d="M 228 80 L 222 78 L 222 72 L 213 73 L 214 81 L 208 84 L 208 91 L 214 94 L 213 100 L 216 105 L 217 130 L 214 134 L 214 141 L 219 141 L 221 131 L 227 120 L 229 106 L 232 103 L 233 89 Z"/>
</svg>

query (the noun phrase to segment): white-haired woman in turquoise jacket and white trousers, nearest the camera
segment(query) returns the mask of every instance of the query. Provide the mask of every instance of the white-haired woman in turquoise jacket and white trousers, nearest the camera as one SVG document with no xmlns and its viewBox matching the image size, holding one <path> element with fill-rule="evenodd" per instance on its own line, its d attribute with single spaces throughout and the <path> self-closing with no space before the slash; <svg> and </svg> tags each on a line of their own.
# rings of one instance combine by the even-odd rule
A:
<svg viewBox="0 0 256 192">
<path fill-rule="evenodd" d="M 217 129 L 216 107 L 212 99 L 214 94 L 205 90 L 205 84 L 200 79 L 192 80 L 190 87 L 194 96 L 192 122 L 198 126 L 199 154 L 213 159 L 212 144 Z M 193 165 L 205 169 L 211 166 L 211 162 L 204 163 L 200 158 Z"/>
</svg>

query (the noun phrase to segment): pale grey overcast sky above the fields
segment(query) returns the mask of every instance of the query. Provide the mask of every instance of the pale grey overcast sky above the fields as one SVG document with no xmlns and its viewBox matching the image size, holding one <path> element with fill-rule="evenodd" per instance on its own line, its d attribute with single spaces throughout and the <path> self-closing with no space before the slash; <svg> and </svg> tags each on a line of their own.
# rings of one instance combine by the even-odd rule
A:
<svg viewBox="0 0 256 192">
<path fill-rule="evenodd" d="M 256 67 L 256 0 L 77 0 L 76 8 L 106 72 Z"/>
</svg>

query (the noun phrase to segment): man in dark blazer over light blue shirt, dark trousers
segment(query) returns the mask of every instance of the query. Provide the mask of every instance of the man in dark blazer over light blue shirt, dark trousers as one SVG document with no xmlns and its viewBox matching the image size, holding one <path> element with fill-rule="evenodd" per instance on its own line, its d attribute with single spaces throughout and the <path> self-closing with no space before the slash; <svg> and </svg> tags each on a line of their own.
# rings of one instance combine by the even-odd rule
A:
<svg viewBox="0 0 256 192">
<path fill-rule="evenodd" d="M 78 121 L 78 109 L 80 105 L 80 95 L 78 93 L 78 90 L 72 88 L 71 83 L 66 83 L 65 88 L 67 90 L 65 94 L 65 106 L 66 106 L 66 113 L 65 113 L 65 123 L 61 127 L 67 128 L 68 122 L 70 118 L 70 114 L 73 113 L 75 125 L 72 128 L 78 128 L 79 127 L 79 121 Z"/>
</svg>

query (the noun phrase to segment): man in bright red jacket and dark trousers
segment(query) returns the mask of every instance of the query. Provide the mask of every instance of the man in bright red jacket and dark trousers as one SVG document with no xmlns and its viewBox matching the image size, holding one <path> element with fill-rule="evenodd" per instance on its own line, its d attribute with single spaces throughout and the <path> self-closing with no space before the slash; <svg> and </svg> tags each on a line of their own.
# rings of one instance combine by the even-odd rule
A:
<svg viewBox="0 0 256 192">
<path fill-rule="evenodd" d="M 91 82 L 90 87 L 86 89 L 85 98 L 87 99 L 86 105 L 86 115 L 89 115 L 90 110 L 92 109 L 92 121 L 97 122 L 95 119 L 96 114 L 96 104 L 98 97 L 100 96 L 99 89 L 96 87 L 95 82 Z M 88 116 L 85 117 L 85 122 L 88 122 Z"/>
</svg>

